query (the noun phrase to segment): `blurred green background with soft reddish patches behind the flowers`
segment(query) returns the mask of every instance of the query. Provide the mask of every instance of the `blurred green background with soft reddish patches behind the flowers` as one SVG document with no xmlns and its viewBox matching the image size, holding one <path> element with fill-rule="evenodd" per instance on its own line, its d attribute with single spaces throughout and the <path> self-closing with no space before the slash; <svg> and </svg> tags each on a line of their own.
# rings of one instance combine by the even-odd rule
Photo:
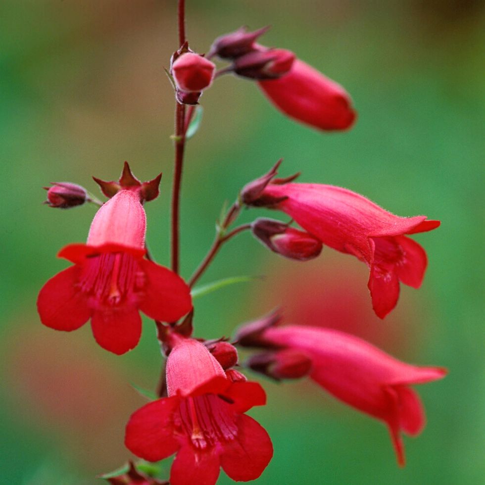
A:
<svg viewBox="0 0 485 485">
<path fill-rule="evenodd" d="M 35 300 L 66 267 L 56 252 L 85 241 L 95 212 L 50 209 L 42 186 L 72 181 L 97 193 L 91 175 L 117 178 L 124 160 L 142 180 L 164 173 L 161 196 L 146 206 L 147 240 L 168 264 L 174 99 L 163 67 L 176 47 L 175 3 L 0 2 L 2 484 L 101 483 L 97 474 L 130 456 L 124 424 L 145 402 L 130 383 L 156 384 L 152 322 L 140 345 L 117 357 L 95 344 L 89 325 L 71 334 L 43 327 Z M 199 52 L 243 24 L 271 24 L 263 43 L 290 48 L 339 81 L 359 119 L 347 133 L 318 133 L 276 112 L 253 83 L 218 80 L 201 98 L 203 122 L 187 149 L 183 275 L 212 241 L 224 200 L 282 156 L 283 175 L 302 171 L 301 181 L 442 221 L 416 236 L 430 259 L 422 289 L 401 286 L 385 321 L 371 311 L 367 268 L 355 258 L 324 249 L 299 264 L 249 234 L 221 251 L 201 283 L 266 279 L 196 300 L 197 336 L 229 336 L 283 303 L 289 323 L 340 328 L 403 360 L 449 368 L 419 389 L 428 425 L 405 438 L 403 470 L 381 423 L 310 382 L 263 382 L 268 406 L 251 414 L 275 456 L 259 483 L 483 483 L 484 2 L 188 0 L 187 18 Z M 262 214 L 246 211 L 242 221 Z"/>
</svg>

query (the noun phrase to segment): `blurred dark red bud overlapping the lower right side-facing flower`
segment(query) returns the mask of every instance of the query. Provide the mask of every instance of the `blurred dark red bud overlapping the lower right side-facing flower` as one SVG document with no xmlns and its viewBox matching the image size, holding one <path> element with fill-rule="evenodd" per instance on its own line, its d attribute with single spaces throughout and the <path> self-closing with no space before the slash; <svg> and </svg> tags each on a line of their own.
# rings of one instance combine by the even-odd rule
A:
<svg viewBox="0 0 485 485">
<path fill-rule="evenodd" d="M 299 379 L 309 374 L 312 361 L 304 353 L 291 348 L 256 354 L 245 362 L 250 369 L 276 381 Z"/>
</svg>

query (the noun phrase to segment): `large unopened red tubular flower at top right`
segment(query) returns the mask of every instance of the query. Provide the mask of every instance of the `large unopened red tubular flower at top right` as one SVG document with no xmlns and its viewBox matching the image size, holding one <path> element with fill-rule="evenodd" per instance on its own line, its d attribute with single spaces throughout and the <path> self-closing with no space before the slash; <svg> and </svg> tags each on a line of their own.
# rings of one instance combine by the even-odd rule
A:
<svg viewBox="0 0 485 485">
<path fill-rule="evenodd" d="M 288 74 L 258 81 L 259 87 L 283 113 L 320 130 L 345 130 L 356 117 L 350 96 L 335 81 L 295 59 Z"/>
</svg>

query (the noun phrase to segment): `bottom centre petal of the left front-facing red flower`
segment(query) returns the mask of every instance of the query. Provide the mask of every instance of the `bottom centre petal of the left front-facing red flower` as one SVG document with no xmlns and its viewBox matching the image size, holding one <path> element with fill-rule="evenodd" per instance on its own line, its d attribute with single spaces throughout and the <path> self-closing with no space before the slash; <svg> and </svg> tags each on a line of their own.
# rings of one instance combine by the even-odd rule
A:
<svg viewBox="0 0 485 485">
<path fill-rule="evenodd" d="M 142 319 L 134 307 L 97 310 L 91 319 L 93 335 L 102 348 L 121 355 L 137 346 Z"/>
</svg>

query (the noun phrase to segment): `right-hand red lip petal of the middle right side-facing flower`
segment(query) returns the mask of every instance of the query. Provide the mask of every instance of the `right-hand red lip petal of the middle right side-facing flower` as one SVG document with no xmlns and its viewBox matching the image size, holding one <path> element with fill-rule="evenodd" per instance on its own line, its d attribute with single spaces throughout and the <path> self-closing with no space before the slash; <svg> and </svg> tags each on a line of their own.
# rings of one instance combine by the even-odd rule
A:
<svg viewBox="0 0 485 485">
<path fill-rule="evenodd" d="M 399 280 L 405 285 L 419 288 L 423 282 L 428 258 L 426 251 L 416 241 L 406 236 L 395 236 L 395 241 L 402 250 L 402 257 L 396 264 Z"/>
</svg>

